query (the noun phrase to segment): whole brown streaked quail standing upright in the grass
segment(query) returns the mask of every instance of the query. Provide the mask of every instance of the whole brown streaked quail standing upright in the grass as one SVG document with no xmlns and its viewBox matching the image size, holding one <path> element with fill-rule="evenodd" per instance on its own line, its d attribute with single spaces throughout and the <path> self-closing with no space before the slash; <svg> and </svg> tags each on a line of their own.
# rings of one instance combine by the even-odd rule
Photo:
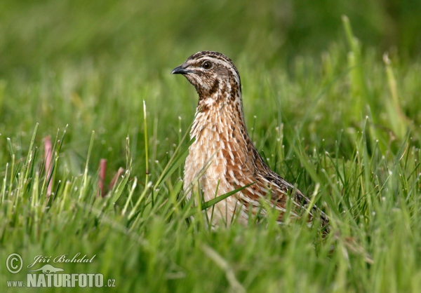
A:
<svg viewBox="0 0 421 293">
<path fill-rule="evenodd" d="M 276 222 L 283 224 L 289 206 L 290 218 L 299 219 L 308 210 L 307 224 L 317 215 L 323 233 L 327 233 L 327 215 L 315 205 L 309 207 L 309 198 L 271 170 L 250 139 L 240 75 L 232 60 L 222 53 L 201 51 L 171 74 L 185 76 L 199 95 L 190 130 L 194 142 L 184 169 L 187 199 L 199 192 L 201 199 L 208 201 L 243 187 L 208 208 L 211 224 L 247 224 L 251 215 L 264 217 L 268 207 L 279 212 Z"/>
</svg>

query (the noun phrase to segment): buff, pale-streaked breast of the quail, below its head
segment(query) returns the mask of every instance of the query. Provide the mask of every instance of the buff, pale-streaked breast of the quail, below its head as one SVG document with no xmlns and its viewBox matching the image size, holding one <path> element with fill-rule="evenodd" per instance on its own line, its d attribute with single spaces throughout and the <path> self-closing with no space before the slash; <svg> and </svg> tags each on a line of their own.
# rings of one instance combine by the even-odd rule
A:
<svg viewBox="0 0 421 293">
<path fill-rule="evenodd" d="M 190 133 L 196 140 L 189 147 L 184 183 L 186 189 L 199 182 L 206 201 L 242 186 L 241 177 L 250 174 L 242 123 L 232 113 L 229 107 L 196 112 Z"/>
</svg>

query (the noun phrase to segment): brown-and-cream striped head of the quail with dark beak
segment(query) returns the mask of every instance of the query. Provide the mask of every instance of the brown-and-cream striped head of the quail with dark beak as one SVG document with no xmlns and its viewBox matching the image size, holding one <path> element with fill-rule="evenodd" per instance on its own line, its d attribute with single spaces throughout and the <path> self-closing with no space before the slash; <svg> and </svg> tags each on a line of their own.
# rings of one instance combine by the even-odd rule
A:
<svg viewBox="0 0 421 293">
<path fill-rule="evenodd" d="M 229 57 L 213 51 L 201 51 L 190 57 L 171 74 L 182 74 L 192 83 L 200 100 L 241 100 L 239 71 Z M 210 99 L 210 100 L 209 100 Z"/>
</svg>

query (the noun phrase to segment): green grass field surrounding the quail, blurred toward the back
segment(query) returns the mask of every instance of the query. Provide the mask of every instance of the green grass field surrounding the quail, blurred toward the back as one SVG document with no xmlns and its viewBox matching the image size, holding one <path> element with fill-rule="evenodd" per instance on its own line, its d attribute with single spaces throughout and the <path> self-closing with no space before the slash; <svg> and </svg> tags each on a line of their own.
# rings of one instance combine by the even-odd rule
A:
<svg viewBox="0 0 421 293">
<path fill-rule="evenodd" d="M 421 9 L 282 3 L 2 1 L 1 292 L 421 292 Z M 185 200 L 197 97 L 170 72 L 204 49 L 232 57 L 256 147 L 315 196 L 325 239 L 271 213 L 211 231 Z M 102 158 L 105 186 L 125 170 L 105 198 Z M 115 287 L 8 287 L 39 255 Z"/>
</svg>

